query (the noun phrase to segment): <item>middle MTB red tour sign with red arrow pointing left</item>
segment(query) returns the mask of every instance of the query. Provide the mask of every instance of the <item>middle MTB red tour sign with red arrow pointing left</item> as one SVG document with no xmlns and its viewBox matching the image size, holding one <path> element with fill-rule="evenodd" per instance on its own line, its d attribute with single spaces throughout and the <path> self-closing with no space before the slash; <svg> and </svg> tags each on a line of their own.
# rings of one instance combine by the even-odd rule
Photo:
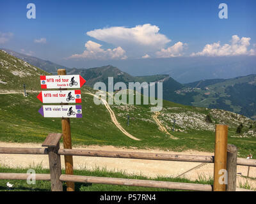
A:
<svg viewBox="0 0 256 204">
<path fill-rule="evenodd" d="M 81 90 L 42 91 L 37 98 L 42 103 L 82 103 Z"/>
</svg>

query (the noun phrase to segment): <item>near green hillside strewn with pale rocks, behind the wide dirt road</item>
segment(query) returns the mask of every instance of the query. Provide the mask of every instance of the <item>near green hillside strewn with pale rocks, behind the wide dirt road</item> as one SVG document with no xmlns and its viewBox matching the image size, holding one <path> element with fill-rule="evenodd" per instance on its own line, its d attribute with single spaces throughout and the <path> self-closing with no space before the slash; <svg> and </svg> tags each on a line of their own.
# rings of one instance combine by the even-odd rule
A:
<svg viewBox="0 0 256 204">
<path fill-rule="evenodd" d="M 3 84 L 6 85 L 5 87 L 1 87 L 3 90 L 0 97 L 0 114 L 2 115 L 0 141 L 41 143 L 48 133 L 60 133 L 60 118 L 44 118 L 38 113 L 42 106 L 36 98 L 38 92 L 32 92 L 29 89 L 28 97 L 19 93 L 8 93 L 13 89 L 19 91 L 19 85 L 21 86 L 25 79 L 31 83 L 29 87 L 35 88 L 37 84 L 39 87 L 39 75 L 47 73 L 3 51 L 1 51 L 0 62 L 3 63 L 1 82 L 7 82 Z M 19 75 L 14 75 L 13 72 Z M 26 77 L 23 77 L 25 74 Z M 19 83 L 15 87 L 16 81 Z M 39 89 L 38 87 L 35 89 Z M 256 153 L 256 124 L 253 120 L 224 110 L 197 108 L 170 101 L 163 101 L 163 110 L 157 115 L 157 119 L 161 122 L 161 126 L 178 140 L 173 140 L 159 128 L 153 118 L 156 113 L 150 112 L 151 105 L 110 105 L 122 128 L 140 139 L 140 141 L 132 140 L 115 126 L 104 105 L 95 105 L 93 96 L 88 94 L 94 92 L 88 86 L 82 88 L 83 118 L 70 119 L 73 144 L 115 145 L 142 149 L 157 147 L 176 151 L 196 149 L 212 152 L 214 124 L 228 124 L 228 143 L 239 147 L 239 156 Z M 130 117 L 129 126 L 127 126 L 127 115 Z M 212 121 L 207 120 L 207 115 Z M 174 120 L 175 129 L 173 129 Z M 243 129 L 241 133 L 236 133 L 241 122 Z"/>
</svg>

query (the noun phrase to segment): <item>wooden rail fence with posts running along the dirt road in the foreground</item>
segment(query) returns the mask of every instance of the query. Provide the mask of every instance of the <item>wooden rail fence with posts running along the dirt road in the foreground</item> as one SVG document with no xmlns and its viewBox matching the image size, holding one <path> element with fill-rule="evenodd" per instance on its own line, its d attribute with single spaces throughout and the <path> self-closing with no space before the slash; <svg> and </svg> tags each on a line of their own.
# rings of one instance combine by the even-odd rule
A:
<svg viewBox="0 0 256 204">
<path fill-rule="evenodd" d="M 216 131 L 217 130 L 218 128 L 216 128 Z M 222 133 L 220 133 L 220 135 L 221 134 Z M 216 133 L 216 135 L 218 134 Z M 61 138 L 60 133 L 50 133 L 45 139 L 45 142 L 42 144 L 42 147 L 46 147 L 46 148 L 0 147 L 0 154 L 48 154 L 50 174 L 36 174 L 36 180 L 51 180 L 52 191 L 63 191 L 62 182 L 83 182 L 83 183 L 92 183 L 92 184 L 113 184 L 113 185 L 125 185 L 125 186 L 159 187 L 159 188 L 165 188 L 165 189 L 179 189 L 179 190 L 185 190 L 185 191 L 246 191 L 246 189 L 236 188 L 237 165 L 256 166 L 256 159 L 237 158 L 236 146 L 228 144 L 226 145 L 227 147 L 225 147 L 224 145 L 223 147 L 226 148 L 226 152 L 224 151 L 224 153 L 227 155 L 227 160 L 225 162 L 225 166 L 226 166 L 225 170 L 227 169 L 227 185 L 226 185 L 226 184 L 220 184 L 220 182 L 216 182 L 216 179 L 219 179 L 220 177 L 220 175 L 218 175 L 220 170 L 218 169 L 219 161 L 216 161 L 216 154 L 220 154 L 221 152 L 220 149 L 218 148 L 216 149 L 216 147 L 215 147 L 214 156 L 158 154 L 158 153 L 155 154 L 155 153 L 142 153 L 142 152 L 117 152 L 117 151 L 106 151 L 106 150 L 60 149 L 60 138 Z M 81 175 L 63 175 L 61 174 L 61 159 L 60 159 L 61 155 L 214 163 L 214 185 L 211 186 L 208 184 L 189 184 L 189 183 L 181 183 L 181 182 L 163 182 L 163 181 L 156 181 L 156 180 L 119 179 L 119 178 L 108 178 L 108 177 L 89 177 L 89 176 L 81 176 Z M 28 179 L 28 175 L 26 173 L 0 173 L 0 179 L 26 180 Z"/>
</svg>

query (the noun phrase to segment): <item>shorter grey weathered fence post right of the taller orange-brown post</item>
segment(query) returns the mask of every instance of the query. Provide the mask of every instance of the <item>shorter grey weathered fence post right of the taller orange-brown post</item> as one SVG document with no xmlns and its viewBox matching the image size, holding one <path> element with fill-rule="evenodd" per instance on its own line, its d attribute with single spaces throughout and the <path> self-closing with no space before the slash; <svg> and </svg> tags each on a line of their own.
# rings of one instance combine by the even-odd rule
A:
<svg viewBox="0 0 256 204">
<path fill-rule="evenodd" d="M 228 171 L 227 191 L 236 191 L 237 147 L 235 145 L 228 144 L 228 147 L 227 147 L 227 171 Z"/>
</svg>

